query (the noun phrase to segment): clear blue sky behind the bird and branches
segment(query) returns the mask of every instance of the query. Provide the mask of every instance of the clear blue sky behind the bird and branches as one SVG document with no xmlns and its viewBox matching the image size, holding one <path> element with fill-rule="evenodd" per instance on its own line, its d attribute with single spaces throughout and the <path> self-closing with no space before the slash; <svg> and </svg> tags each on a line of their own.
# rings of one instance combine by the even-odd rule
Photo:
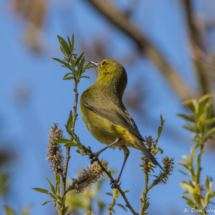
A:
<svg viewBox="0 0 215 215">
<path fill-rule="evenodd" d="M 118 2 L 120 5 L 123 1 Z M 142 13 L 137 12 L 132 19 L 138 20 L 137 26 L 146 32 L 169 62 L 180 71 L 181 77 L 189 84 L 189 88 L 195 90 L 197 84 L 188 54 L 187 32 L 181 5 L 178 1 L 165 0 L 158 1 L 154 7 L 154 1 L 150 2 L 142 1 L 140 4 L 145 4 L 145 7 L 139 6 L 143 8 Z M 18 210 L 20 205 L 26 207 L 33 204 L 32 215 L 47 214 L 53 207 L 51 204 L 41 206 L 44 201 L 49 200 L 49 197 L 31 188 L 48 188 L 45 177 L 50 179 L 54 177 L 46 162 L 48 131 L 53 122 L 58 122 L 65 130 L 64 125 L 74 102 L 73 82 L 62 80 L 67 71 L 51 59 L 51 57 L 62 58 L 57 35 L 66 37 L 74 33 L 77 53 L 83 51 L 80 49 L 81 39 L 90 43 L 95 36 L 104 35 L 107 35 L 111 41 L 108 55 L 112 59 L 117 60 L 120 55 L 135 50 L 129 38 L 111 26 L 84 1 L 55 0 L 48 1 L 48 4 L 49 11 L 46 16 L 43 40 L 46 51 L 39 55 L 29 50 L 23 42 L 23 20 L 11 13 L 6 0 L 0 1 L 0 26 L 3 29 L 0 34 L 0 101 L 2 101 L 0 118 L 3 124 L 0 134 L 4 142 L 8 143 L 6 146 L 2 144 L 0 146 L 17 152 L 16 162 L 13 164 L 13 202 L 8 199 L 0 203 L 0 207 L 6 203 Z M 126 8 L 126 4 L 124 7 Z M 128 89 L 134 87 L 137 79 L 141 80 L 148 89 L 150 99 L 144 104 L 144 111 L 147 111 L 144 114 L 149 115 L 157 124 L 147 126 L 147 122 L 142 121 L 143 117 L 129 109 L 130 114 L 136 121 L 142 136 L 151 135 L 154 138 L 159 126 L 159 115 L 163 114 L 166 122 L 159 146 L 164 150 L 165 155 L 174 157 L 176 163 L 168 183 L 158 185 L 149 192 L 151 202 L 149 213 L 171 214 L 172 211 L 177 211 L 178 214 L 183 214 L 186 204 L 180 198 L 183 190 L 179 183 L 185 177 L 177 171 L 180 168 L 177 162 L 181 160 L 182 155 L 190 153 L 192 143 L 189 139 L 192 135 L 181 128 L 184 122 L 176 114 L 185 113 L 186 110 L 157 68 L 144 57 L 140 56 L 135 64 L 127 66 L 126 71 L 129 79 Z M 78 90 L 80 94 L 96 80 L 92 70 L 88 70 L 86 75 L 91 79 L 82 79 Z M 29 96 L 29 99 L 23 102 L 17 99 L 17 95 L 22 92 L 27 92 Z M 81 142 L 86 146 L 90 145 L 93 151 L 100 150 L 103 145 L 88 132 L 81 119 L 79 108 L 78 113 L 76 133 L 80 136 Z M 174 129 L 179 138 L 170 137 L 166 128 Z M 140 208 L 139 197 L 144 187 L 144 174 L 139 167 L 140 152 L 135 149 L 130 151 L 131 154 L 122 175 L 122 189 L 131 191 L 128 199 L 137 211 Z M 159 162 L 162 156 L 158 156 Z M 215 177 L 214 171 L 211 171 L 214 168 L 213 156 L 214 153 L 209 150 L 203 156 L 202 180 L 206 174 Z M 109 167 L 120 170 L 123 162 L 122 152 L 110 149 L 101 157 L 109 161 Z M 74 177 L 78 168 L 86 168 L 87 165 L 89 165 L 88 157 L 81 157 L 72 150 L 68 176 Z M 158 174 L 158 172 L 157 169 L 155 173 Z M 108 182 L 104 192 L 110 192 Z M 108 203 L 111 202 L 109 197 L 104 199 L 109 201 Z M 124 204 L 123 199 L 119 199 L 119 202 Z M 1 210 L 0 213 L 2 213 Z M 116 211 L 119 214 L 122 213 L 120 208 Z"/>
</svg>

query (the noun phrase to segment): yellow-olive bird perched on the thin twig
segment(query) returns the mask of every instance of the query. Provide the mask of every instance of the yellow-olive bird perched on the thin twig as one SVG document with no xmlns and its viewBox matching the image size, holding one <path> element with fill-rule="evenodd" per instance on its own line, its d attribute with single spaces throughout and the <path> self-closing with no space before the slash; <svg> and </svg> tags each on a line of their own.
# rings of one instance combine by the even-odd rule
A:
<svg viewBox="0 0 215 215">
<path fill-rule="evenodd" d="M 80 109 L 83 121 L 90 133 L 103 144 L 108 145 L 95 154 L 99 156 L 105 149 L 119 147 L 124 151 L 125 159 L 118 178 L 129 156 L 127 147 L 132 147 L 143 154 L 155 165 L 163 169 L 157 160 L 146 149 L 145 140 L 126 110 L 122 96 L 127 85 L 127 74 L 124 67 L 114 60 L 91 61 L 98 68 L 97 81 L 83 92 Z"/>
</svg>

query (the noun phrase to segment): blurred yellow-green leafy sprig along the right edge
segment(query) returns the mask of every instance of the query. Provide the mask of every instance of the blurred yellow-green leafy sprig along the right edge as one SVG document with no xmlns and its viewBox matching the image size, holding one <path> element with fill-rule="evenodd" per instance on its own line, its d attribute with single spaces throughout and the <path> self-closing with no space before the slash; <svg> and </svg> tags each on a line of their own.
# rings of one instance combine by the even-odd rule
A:
<svg viewBox="0 0 215 215">
<path fill-rule="evenodd" d="M 183 127 L 193 133 L 192 141 L 194 146 L 191 148 L 190 157 L 182 156 L 183 162 L 180 165 L 185 168 L 185 171 L 180 172 L 189 177 L 187 181 L 181 181 L 181 187 L 185 190 L 183 195 L 186 203 L 195 208 L 201 214 L 207 214 L 207 206 L 214 204 L 211 200 L 215 197 L 213 188 L 213 179 L 206 176 L 203 183 L 200 182 L 201 159 L 202 154 L 208 147 L 205 147 L 206 142 L 212 138 L 215 131 L 215 118 L 212 117 L 212 100 L 213 95 L 208 94 L 200 98 L 187 100 L 184 105 L 188 106 L 191 115 L 178 114 L 187 121 L 187 125 Z M 194 157 L 196 159 L 194 161 Z M 205 195 L 203 195 L 205 193 Z"/>
</svg>

